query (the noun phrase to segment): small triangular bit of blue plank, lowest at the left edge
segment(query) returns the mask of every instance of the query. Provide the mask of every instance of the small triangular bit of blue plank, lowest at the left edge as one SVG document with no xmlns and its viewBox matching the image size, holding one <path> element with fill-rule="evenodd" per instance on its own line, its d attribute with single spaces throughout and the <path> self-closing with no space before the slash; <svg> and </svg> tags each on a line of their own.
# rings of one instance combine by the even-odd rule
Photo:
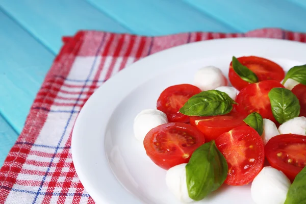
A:
<svg viewBox="0 0 306 204">
<path fill-rule="evenodd" d="M 17 137 L 18 134 L 0 115 L 0 166 L 2 166 Z"/>
</svg>

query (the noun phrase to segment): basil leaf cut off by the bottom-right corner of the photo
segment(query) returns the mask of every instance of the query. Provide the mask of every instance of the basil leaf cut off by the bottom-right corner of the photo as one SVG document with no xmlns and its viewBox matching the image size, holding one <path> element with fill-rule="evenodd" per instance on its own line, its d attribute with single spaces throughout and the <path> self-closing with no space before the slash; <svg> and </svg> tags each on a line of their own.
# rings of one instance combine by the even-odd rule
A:
<svg viewBox="0 0 306 204">
<path fill-rule="evenodd" d="M 306 166 L 295 176 L 284 204 L 306 203 Z"/>
</svg>

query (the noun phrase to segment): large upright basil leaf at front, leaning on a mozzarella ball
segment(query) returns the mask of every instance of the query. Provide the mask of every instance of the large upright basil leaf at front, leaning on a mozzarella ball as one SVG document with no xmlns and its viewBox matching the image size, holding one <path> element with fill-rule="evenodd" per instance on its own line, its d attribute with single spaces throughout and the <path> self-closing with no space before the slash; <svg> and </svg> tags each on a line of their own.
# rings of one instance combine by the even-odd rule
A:
<svg viewBox="0 0 306 204">
<path fill-rule="evenodd" d="M 214 140 L 198 147 L 186 165 L 189 197 L 201 200 L 217 190 L 227 176 L 227 163 Z"/>
</svg>

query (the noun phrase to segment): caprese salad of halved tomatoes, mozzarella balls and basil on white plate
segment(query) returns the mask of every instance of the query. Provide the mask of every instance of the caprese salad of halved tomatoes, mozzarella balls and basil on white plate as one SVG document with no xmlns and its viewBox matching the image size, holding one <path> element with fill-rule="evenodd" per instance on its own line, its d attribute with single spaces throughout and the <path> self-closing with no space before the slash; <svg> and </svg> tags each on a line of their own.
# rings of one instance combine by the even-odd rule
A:
<svg viewBox="0 0 306 204">
<path fill-rule="evenodd" d="M 207 66 L 194 85 L 166 88 L 136 116 L 135 137 L 181 201 L 251 183 L 257 204 L 306 203 L 306 65 L 285 74 L 265 58 L 233 57 L 228 79 L 233 87 Z"/>
</svg>

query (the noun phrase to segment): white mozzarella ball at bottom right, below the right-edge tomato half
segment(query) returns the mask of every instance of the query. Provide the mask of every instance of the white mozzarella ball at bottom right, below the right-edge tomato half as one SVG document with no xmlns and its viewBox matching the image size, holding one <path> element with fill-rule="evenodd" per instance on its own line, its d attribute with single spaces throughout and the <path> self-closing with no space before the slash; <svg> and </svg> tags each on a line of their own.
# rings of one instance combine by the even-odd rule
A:
<svg viewBox="0 0 306 204">
<path fill-rule="evenodd" d="M 284 204 L 290 185 L 282 171 L 266 166 L 253 180 L 251 196 L 256 204 Z"/>
</svg>

